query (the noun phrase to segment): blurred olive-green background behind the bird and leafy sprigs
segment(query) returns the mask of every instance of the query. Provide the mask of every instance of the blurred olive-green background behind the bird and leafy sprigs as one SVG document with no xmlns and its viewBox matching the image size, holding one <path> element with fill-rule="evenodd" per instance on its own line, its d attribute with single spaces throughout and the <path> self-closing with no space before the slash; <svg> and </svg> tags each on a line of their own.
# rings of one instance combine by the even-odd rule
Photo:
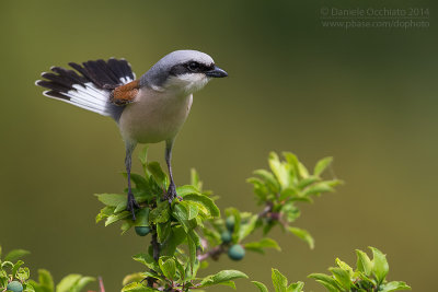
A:
<svg viewBox="0 0 438 292">
<path fill-rule="evenodd" d="M 310 250 L 275 230 L 283 253 L 222 257 L 223 268 L 270 283 L 270 267 L 306 291 L 322 291 L 310 272 L 336 256 L 355 264 L 355 248 L 388 254 L 390 280 L 430 291 L 436 278 L 438 163 L 437 30 L 325 28 L 323 7 L 429 8 L 427 1 L 20 1 L 0 2 L 0 244 L 32 250 L 26 264 L 102 276 L 119 291 L 142 267 L 130 256 L 149 238 L 94 224 L 95 192 L 126 185 L 124 145 L 108 118 L 45 98 L 34 85 L 53 65 L 112 56 L 139 77 L 165 54 L 211 55 L 230 77 L 195 95 L 174 149 L 176 184 L 196 167 L 221 208 L 257 212 L 252 171 L 270 150 L 307 164 L 333 155 L 346 182 L 338 192 L 303 206 L 297 226 Z M 334 1 L 333 1 L 334 2 Z M 150 155 L 163 163 L 163 145 Z M 135 170 L 140 171 L 138 161 Z M 34 275 L 35 276 L 35 275 Z M 239 280 L 239 291 L 255 291 Z M 212 291 L 222 291 L 226 288 Z"/>
</svg>

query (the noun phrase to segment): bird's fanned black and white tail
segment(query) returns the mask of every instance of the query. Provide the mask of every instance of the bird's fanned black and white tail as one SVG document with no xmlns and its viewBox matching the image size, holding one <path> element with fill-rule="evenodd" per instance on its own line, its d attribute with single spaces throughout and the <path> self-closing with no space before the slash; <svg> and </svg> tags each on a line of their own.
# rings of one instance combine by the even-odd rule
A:
<svg viewBox="0 0 438 292">
<path fill-rule="evenodd" d="M 70 62 L 77 70 L 51 67 L 44 72 L 46 80 L 37 80 L 36 85 L 48 89 L 44 95 L 60 100 L 78 107 L 118 119 L 123 107 L 110 103 L 113 89 L 136 79 L 130 65 L 124 60 L 111 58 L 107 61 L 87 61 L 82 66 Z"/>
</svg>

